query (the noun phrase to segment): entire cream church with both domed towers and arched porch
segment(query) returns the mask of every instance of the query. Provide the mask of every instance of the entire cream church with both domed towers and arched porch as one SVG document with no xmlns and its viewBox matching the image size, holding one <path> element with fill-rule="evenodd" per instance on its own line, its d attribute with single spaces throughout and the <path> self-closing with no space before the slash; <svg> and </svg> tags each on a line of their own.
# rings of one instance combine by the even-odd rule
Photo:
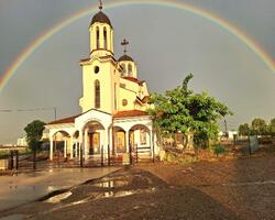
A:
<svg viewBox="0 0 275 220">
<path fill-rule="evenodd" d="M 116 58 L 113 26 L 100 11 L 90 26 L 90 54 L 80 61 L 82 69 L 81 113 L 53 121 L 50 131 L 50 158 L 53 161 L 56 141 L 63 143 L 63 156 L 86 161 L 102 156 L 121 156 L 139 151 L 153 157 L 158 153 L 153 133 L 146 82 L 138 77 L 136 63 L 127 55 Z M 127 45 L 124 40 L 122 45 Z M 80 151 L 81 148 L 81 151 Z"/>
</svg>

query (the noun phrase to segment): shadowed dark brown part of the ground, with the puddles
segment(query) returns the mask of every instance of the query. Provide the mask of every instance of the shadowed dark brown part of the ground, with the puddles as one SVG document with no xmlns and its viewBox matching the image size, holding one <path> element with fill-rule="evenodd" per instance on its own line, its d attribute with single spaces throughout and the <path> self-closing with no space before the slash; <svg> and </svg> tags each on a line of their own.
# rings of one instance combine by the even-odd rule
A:
<svg viewBox="0 0 275 220">
<path fill-rule="evenodd" d="M 43 201 L 0 212 L 0 219 L 239 220 L 200 190 L 174 187 L 139 168 L 120 170 Z"/>
</svg>

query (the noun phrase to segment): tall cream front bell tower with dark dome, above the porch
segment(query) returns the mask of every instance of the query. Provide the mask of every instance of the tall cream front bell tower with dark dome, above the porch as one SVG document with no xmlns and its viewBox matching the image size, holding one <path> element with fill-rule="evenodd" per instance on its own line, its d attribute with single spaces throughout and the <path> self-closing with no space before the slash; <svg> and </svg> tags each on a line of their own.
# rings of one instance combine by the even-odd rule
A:
<svg viewBox="0 0 275 220">
<path fill-rule="evenodd" d="M 110 19 L 102 12 L 92 16 L 90 26 L 90 55 L 82 59 L 82 112 L 97 109 L 112 113 L 117 109 L 119 65 L 113 54 L 113 29 Z"/>
</svg>

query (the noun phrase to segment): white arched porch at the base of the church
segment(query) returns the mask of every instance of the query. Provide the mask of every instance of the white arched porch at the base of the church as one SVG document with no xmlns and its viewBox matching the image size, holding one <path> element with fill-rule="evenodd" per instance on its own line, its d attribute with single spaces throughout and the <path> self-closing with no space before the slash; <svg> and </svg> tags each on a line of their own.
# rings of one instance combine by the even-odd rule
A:
<svg viewBox="0 0 275 220">
<path fill-rule="evenodd" d="M 58 155 L 85 164 L 123 158 L 139 154 L 140 158 L 154 158 L 157 154 L 155 134 L 148 116 L 113 117 L 91 110 L 75 118 L 74 124 L 59 124 L 50 129 L 50 160 L 56 157 L 56 136 L 59 136 Z"/>
</svg>

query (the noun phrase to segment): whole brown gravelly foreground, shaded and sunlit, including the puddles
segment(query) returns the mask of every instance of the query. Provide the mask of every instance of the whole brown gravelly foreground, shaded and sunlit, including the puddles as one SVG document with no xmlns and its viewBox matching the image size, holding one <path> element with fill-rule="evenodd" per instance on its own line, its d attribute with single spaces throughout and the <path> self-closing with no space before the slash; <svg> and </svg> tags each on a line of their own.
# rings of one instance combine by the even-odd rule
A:
<svg viewBox="0 0 275 220">
<path fill-rule="evenodd" d="M 275 219 L 275 157 L 128 167 L 0 217 Z"/>
</svg>

